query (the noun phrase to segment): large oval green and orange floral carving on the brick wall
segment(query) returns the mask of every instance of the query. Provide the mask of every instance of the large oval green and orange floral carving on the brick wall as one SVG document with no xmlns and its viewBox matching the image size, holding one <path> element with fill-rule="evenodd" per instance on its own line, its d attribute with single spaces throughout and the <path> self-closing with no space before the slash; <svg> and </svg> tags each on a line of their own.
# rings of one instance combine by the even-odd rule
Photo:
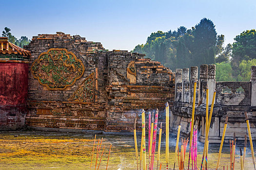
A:
<svg viewBox="0 0 256 170">
<path fill-rule="evenodd" d="M 66 49 L 49 49 L 34 61 L 31 67 L 34 78 L 49 90 L 63 90 L 74 85 L 84 73 L 81 60 Z"/>
</svg>

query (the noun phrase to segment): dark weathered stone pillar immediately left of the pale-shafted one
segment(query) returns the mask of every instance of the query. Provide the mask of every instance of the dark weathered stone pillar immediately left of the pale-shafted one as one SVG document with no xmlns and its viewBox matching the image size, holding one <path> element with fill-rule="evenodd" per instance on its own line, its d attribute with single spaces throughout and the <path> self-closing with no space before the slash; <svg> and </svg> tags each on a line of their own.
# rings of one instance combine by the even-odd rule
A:
<svg viewBox="0 0 256 170">
<path fill-rule="evenodd" d="M 206 103 L 206 88 L 207 88 L 208 65 L 202 64 L 200 66 L 200 80 L 199 80 L 199 103 Z"/>
</svg>

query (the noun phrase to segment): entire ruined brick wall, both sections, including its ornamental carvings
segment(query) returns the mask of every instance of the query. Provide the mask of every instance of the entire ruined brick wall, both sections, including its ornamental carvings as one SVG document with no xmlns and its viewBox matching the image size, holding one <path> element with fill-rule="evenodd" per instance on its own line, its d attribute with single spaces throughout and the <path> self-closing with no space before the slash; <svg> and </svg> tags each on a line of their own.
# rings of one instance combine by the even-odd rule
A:
<svg viewBox="0 0 256 170">
<path fill-rule="evenodd" d="M 165 102 L 174 101 L 174 73 L 144 54 L 106 51 L 62 33 L 39 34 L 26 48 L 28 126 L 132 131 L 142 108 L 146 114 L 158 108 L 162 121 Z"/>
</svg>

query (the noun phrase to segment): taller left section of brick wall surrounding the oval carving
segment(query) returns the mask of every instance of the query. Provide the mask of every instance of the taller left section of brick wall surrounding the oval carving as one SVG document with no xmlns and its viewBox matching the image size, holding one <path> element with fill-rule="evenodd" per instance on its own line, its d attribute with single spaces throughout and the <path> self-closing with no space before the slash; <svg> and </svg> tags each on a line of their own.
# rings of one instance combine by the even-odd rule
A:
<svg viewBox="0 0 256 170">
<path fill-rule="evenodd" d="M 87 42 L 79 35 L 72 37 L 68 34 L 39 34 L 33 37 L 27 47 L 32 54 L 29 62 L 30 68 L 42 52 L 52 48 L 72 51 L 77 59 L 82 61 L 84 73 L 74 85 L 63 90 L 52 90 L 39 84 L 39 80 L 35 79 L 32 74 L 32 69 L 29 69 L 27 125 L 103 130 L 107 113 L 104 89 L 107 78 L 106 51 L 100 43 Z M 86 90 L 77 92 L 76 90 L 79 90 L 79 86 L 86 84 L 84 81 L 91 74 L 92 99 L 79 99 L 78 101 L 71 99 L 74 94 L 88 93 Z"/>
</svg>

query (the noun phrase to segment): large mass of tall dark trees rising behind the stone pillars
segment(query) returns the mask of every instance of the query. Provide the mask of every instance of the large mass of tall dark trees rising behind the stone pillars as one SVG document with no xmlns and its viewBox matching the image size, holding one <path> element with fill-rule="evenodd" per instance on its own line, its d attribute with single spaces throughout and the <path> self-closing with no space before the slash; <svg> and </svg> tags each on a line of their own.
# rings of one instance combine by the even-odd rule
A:
<svg viewBox="0 0 256 170">
<path fill-rule="evenodd" d="M 224 35 L 217 36 L 214 23 L 203 18 L 192 29 L 181 26 L 177 31 L 152 33 L 146 44 L 137 45 L 133 51 L 145 53 L 147 57 L 175 70 L 214 64 L 217 54 L 223 51 L 223 42 Z"/>
</svg>

